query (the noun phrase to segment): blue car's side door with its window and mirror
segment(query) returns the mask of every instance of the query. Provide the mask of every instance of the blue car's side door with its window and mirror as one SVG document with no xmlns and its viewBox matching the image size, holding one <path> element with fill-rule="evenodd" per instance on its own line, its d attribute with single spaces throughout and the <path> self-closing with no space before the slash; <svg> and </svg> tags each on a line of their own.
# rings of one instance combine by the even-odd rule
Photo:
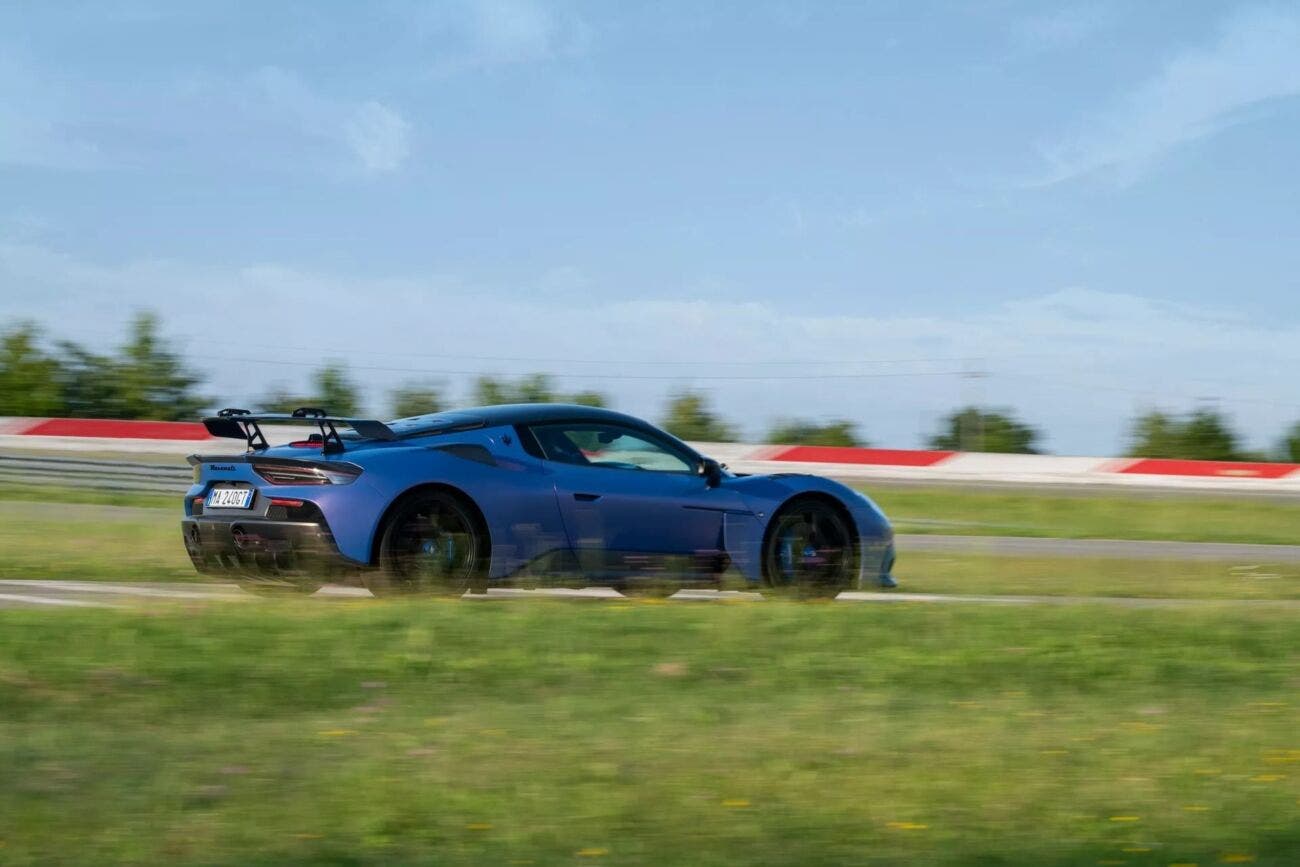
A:
<svg viewBox="0 0 1300 867">
<path fill-rule="evenodd" d="M 551 465 L 569 543 L 589 575 L 696 571 L 719 563 L 723 517 L 740 497 L 711 487 L 696 458 L 651 432 L 610 422 L 532 426 Z"/>
</svg>

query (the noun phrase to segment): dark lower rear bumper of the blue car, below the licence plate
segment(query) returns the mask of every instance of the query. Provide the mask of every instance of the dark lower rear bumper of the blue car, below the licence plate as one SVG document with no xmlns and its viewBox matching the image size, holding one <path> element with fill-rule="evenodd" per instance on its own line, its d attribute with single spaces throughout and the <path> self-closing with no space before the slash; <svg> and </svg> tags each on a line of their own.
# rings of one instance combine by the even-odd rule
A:
<svg viewBox="0 0 1300 867">
<path fill-rule="evenodd" d="M 187 517 L 181 536 L 194 568 L 205 575 L 315 577 L 355 569 L 318 523 Z"/>
</svg>

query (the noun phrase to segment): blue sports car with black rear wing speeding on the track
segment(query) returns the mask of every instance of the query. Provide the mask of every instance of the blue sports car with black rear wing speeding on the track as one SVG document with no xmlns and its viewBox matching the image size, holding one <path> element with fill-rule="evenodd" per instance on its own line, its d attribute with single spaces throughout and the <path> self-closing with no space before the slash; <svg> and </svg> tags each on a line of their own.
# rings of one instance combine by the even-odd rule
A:
<svg viewBox="0 0 1300 867">
<path fill-rule="evenodd" d="M 269 422 L 315 425 L 272 447 Z M 194 455 L 182 534 L 195 568 L 312 591 L 359 575 L 376 595 L 567 580 L 624 593 L 749 586 L 833 595 L 892 586 L 893 530 L 862 494 L 745 476 L 610 409 L 519 404 L 381 422 L 304 407 L 224 409 L 237 455 Z"/>
</svg>

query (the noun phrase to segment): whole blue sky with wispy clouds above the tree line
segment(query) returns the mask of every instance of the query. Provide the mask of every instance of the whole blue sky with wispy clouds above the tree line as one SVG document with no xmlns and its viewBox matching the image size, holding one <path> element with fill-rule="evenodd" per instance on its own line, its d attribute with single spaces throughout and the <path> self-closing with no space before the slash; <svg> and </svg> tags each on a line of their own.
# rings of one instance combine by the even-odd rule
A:
<svg viewBox="0 0 1300 867">
<path fill-rule="evenodd" d="M 0 317 L 220 402 L 546 370 L 758 435 L 1300 419 L 1300 6 L 0 4 Z M 982 377 L 963 376 L 972 372 Z"/>
</svg>

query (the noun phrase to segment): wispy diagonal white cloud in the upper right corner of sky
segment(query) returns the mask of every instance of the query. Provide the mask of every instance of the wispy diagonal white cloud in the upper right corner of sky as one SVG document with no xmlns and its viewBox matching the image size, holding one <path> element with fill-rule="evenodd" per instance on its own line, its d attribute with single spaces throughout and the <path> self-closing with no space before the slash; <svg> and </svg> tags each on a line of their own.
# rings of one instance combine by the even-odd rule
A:
<svg viewBox="0 0 1300 867">
<path fill-rule="evenodd" d="M 1048 186 L 1106 170 L 1132 181 L 1171 149 L 1300 94 L 1300 12 L 1257 8 L 1230 17 L 1209 47 L 1183 51 L 1078 130 L 1043 146 Z"/>
</svg>

